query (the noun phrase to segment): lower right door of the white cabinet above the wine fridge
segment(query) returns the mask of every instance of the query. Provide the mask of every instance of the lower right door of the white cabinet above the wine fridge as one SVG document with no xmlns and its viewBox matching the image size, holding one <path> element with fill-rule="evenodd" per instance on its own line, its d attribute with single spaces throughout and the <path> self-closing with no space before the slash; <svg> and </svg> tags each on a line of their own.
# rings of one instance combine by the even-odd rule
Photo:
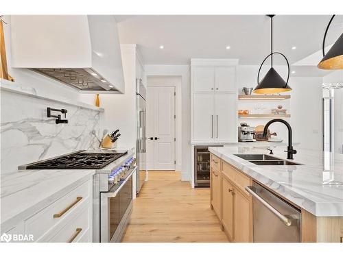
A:
<svg viewBox="0 0 343 257">
<path fill-rule="evenodd" d="M 215 119 L 213 133 L 220 142 L 237 141 L 237 95 L 230 93 L 215 94 Z"/>
</svg>

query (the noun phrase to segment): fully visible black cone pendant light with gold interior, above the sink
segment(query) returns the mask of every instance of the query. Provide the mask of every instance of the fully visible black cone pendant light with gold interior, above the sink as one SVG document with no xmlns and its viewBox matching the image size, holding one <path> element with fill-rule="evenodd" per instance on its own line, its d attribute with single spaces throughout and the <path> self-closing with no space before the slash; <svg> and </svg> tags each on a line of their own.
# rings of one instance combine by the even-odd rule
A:
<svg viewBox="0 0 343 257">
<path fill-rule="evenodd" d="M 257 87 L 254 89 L 254 93 L 256 94 L 274 94 L 274 93 L 283 93 L 292 90 L 288 86 L 288 79 L 289 79 L 289 62 L 287 58 L 279 52 L 273 52 L 273 17 L 274 15 L 267 15 L 270 17 L 270 34 L 271 34 L 271 47 L 270 47 L 270 54 L 263 60 L 261 63 L 261 66 L 259 67 L 259 73 L 261 72 L 261 68 L 265 60 L 268 59 L 268 57 L 271 58 L 271 67 L 270 70 L 268 71 L 267 74 L 265 74 L 265 77 L 259 82 L 259 73 L 257 75 Z M 287 81 L 283 80 L 283 78 L 275 71 L 273 68 L 273 55 L 274 54 L 279 54 L 285 58 L 287 62 L 287 67 L 288 67 L 288 75 L 287 75 Z"/>
</svg>

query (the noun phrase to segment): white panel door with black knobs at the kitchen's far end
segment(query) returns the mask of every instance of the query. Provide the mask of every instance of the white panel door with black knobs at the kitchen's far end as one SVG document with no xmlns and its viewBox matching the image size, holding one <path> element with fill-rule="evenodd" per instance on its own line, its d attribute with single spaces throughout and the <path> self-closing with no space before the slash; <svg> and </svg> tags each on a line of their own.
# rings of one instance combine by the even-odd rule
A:
<svg viewBox="0 0 343 257">
<path fill-rule="evenodd" d="M 148 169 L 175 169 L 175 88 L 148 87 Z M 152 138 L 152 140 L 151 140 Z M 153 163 L 153 165 L 152 165 Z"/>
</svg>

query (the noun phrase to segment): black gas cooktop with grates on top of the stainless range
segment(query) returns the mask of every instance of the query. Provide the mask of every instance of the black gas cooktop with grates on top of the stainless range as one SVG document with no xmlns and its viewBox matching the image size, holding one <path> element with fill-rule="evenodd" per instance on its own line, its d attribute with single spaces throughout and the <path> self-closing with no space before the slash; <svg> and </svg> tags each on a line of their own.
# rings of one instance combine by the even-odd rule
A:
<svg viewBox="0 0 343 257">
<path fill-rule="evenodd" d="M 102 169 L 127 154 L 121 153 L 88 153 L 78 151 L 73 154 L 66 154 L 49 160 L 42 160 L 25 165 L 25 169 Z M 21 167 L 19 167 L 20 169 Z"/>
</svg>

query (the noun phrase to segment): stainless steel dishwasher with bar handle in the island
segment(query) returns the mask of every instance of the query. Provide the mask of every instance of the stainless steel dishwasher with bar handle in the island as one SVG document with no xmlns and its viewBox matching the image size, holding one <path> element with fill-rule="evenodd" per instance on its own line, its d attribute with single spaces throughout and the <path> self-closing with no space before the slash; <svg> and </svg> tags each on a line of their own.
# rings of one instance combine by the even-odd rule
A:
<svg viewBox="0 0 343 257">
<path fill-rule="evenodd" d="M 300 210 L 256 182 L 246 191 L 253 198 L 254 242 L 300 242 Z"/>
</svg>

